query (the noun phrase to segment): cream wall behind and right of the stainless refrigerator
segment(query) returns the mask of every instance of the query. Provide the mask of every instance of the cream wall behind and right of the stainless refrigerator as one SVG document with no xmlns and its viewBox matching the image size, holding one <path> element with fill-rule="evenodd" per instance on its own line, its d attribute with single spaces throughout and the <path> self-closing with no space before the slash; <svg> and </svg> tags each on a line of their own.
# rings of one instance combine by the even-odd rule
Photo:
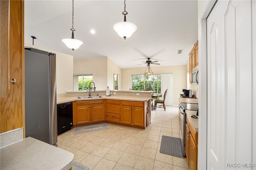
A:
<svg viewBox="0 0 256 170">
<path fill-rule="evenodd" d="M 67 91 L 73 91 L 73 56 L 60 53 L 58 51 L 53 51 L 50 49 L 45 49 L 42 47 L 37 47 L 31 44 L 25 44 L 25 47 L 32 47 L 35 49 L 40 49 L 43 51 L 48 51 L 50 53 L 56 54 L 56 86 L 57 94 L 64 93 L 64 89 Z"/>
</svg>

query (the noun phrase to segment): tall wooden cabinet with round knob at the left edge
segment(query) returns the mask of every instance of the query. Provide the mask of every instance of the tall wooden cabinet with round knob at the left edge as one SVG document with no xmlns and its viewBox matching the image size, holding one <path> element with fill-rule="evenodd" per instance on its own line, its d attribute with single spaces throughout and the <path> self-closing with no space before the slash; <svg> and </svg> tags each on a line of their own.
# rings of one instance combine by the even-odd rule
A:
<svg viewBox="0 0 256 170">
<path fill-rule="evenodd" d="M 0 19 L 0 133 L 24 127 L 25 137 L 24 1 L 0 0 Z"/>
</svg>

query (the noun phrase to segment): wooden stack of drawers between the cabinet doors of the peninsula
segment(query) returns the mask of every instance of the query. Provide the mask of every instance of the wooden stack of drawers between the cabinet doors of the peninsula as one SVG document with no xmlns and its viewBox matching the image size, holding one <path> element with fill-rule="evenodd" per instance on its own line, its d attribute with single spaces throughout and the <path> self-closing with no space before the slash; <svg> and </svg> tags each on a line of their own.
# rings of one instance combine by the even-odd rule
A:
<svg viewBox="0 0 256 170">
<path fill-rule="evenodd" d="M 106 100 L 106 121 L 120 123 L 121 101 Z"/>
</svg>

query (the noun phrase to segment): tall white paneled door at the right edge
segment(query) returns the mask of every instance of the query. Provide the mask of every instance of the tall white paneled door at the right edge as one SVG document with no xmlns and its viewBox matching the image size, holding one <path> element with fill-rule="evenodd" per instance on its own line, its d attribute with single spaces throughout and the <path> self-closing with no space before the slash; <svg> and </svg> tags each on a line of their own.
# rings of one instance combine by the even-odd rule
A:
<svg viewBox="0 0 256 170">
<path fill-rule="evenodd" d="M 219 0 L 207 18 L 207 169 L 255 163 L 253 3 Z"/>
</svg>

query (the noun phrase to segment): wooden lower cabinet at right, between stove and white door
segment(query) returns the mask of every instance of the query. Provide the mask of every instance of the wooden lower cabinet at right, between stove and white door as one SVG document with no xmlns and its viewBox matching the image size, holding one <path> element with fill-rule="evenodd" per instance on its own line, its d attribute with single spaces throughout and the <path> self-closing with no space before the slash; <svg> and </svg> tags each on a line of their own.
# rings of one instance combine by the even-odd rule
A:
<svg viewBox="0 0 256 170">
<path fill-rule="evenodd" d="M 185 138 L 185 153 L 190 170 L 197 169 L 197 145 L 198 132 L 191 127 L 188 119 L 186 120 L 186 138 Z"/>
</svg>

